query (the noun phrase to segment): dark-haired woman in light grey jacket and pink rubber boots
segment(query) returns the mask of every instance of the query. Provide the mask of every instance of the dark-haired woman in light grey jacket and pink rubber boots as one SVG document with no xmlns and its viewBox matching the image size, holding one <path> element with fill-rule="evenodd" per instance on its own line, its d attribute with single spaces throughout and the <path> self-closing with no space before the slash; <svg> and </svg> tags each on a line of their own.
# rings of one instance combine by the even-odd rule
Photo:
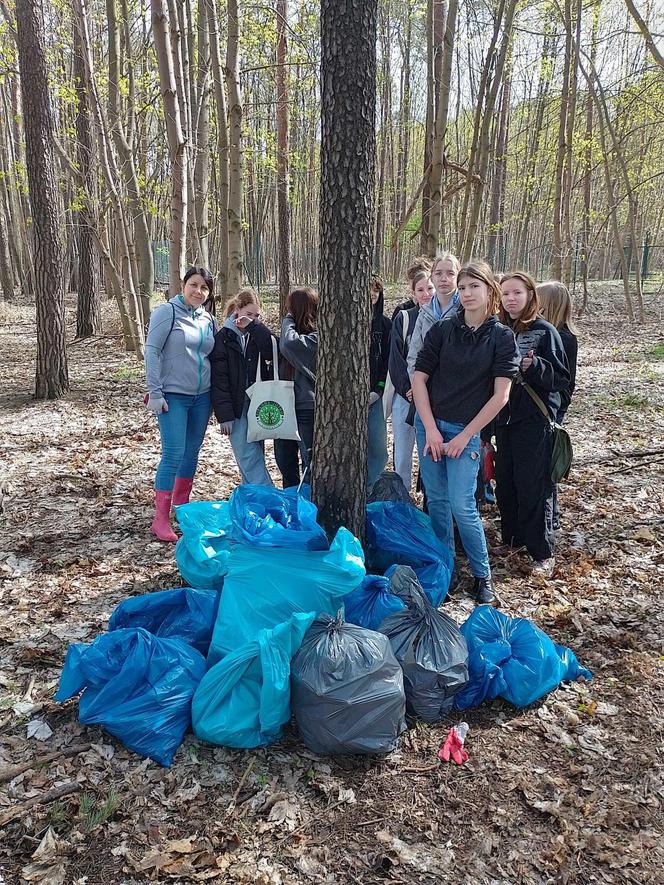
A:
<svg viewBox="0 0 664 885">
<path fill-rule="evenodd" d="M 146 406 L 157 416 L 161 436 L 151 525 L 160 541 L 177 541 L 171 504 L 189 501 L 210 417 L 214 280 L 209 270 L 190 267 L 182 282 L 182 293 L 152 312 L 145 343 Z"/>
</svg>

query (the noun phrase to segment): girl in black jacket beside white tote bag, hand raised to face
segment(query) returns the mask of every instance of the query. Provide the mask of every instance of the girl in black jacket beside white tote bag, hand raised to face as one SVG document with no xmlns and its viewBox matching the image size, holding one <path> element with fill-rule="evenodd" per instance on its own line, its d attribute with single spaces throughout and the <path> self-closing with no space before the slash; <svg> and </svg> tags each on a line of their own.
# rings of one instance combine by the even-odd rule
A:
<svg viewBox="0 0 664 885">
<path fill-rule="evenodd" d="M 253 289 L 241 289 L 226 305 L 226 320 L 215 335 L 210 354 L 212 408 L 222 436 L 230 438 L 242 482 L 273 485 L 265 466 L 263 440 L 248 441 L 247 391 L 254 379 L 274 378 L 273 342 L 261 322 L 260 299 Z"/>
</svg>

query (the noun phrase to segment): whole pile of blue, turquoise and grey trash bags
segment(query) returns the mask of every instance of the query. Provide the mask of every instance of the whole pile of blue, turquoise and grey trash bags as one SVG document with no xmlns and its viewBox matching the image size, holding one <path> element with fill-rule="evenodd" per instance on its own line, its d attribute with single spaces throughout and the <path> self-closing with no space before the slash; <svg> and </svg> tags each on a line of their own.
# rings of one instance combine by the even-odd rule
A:
<svg viewBox="0 0 664 885">
<path fill-rule="evenodd" d="M 481 606 L 459 628 L 438 611 L 451 554 L 426 549 L 427 522 L 405 502 L 368 506 L 379 575 L 345 528 L 328 542 L 306 490 L 245 485 L 177 516 L 177 562 L 199 586 L 121 602 L 108 632 L 69 648 L 56 694 L 80 695 L 81 722 L 161 765 L 190 728 L 252 748 L 292 717 L 313 752 L 387 753 L 407 719 L 439 722 L 495 697 L 524 706 L 590 678 L 530 621 Z"/>
</svg>

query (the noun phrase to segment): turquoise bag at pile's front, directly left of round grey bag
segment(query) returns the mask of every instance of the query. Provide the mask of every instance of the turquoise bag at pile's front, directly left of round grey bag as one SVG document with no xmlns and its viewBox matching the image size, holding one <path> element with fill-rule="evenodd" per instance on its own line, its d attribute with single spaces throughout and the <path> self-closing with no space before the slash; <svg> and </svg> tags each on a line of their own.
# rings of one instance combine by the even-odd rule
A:
<svg viewBox="0 0 664 885">
<path fill-rule="evenodd" d="M 290 709 L 290 662 L 315 615 L 294 614 L 261 630 L 215 664 L 192 704 L 194 732 L 224 747 L 249 749 L 278 740 Z"/>
</svg>

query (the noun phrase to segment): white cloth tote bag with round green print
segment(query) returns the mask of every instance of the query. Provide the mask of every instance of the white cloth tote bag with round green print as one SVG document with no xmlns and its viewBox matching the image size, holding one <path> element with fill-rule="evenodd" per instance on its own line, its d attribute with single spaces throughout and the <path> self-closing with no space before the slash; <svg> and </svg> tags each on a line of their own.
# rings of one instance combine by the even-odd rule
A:
<svg viewBox="0 0 664 885">
<path fill-rule="evenodd" d="M 277 341 L 272 336 L 274 381 L 261 378 L 261 355 L 258 354 L 256 381 L 247 388 L 247 442 L 262 439 L 300 439 L 295 415 L 295 384 L 279 380 Z"/>
</svg>

